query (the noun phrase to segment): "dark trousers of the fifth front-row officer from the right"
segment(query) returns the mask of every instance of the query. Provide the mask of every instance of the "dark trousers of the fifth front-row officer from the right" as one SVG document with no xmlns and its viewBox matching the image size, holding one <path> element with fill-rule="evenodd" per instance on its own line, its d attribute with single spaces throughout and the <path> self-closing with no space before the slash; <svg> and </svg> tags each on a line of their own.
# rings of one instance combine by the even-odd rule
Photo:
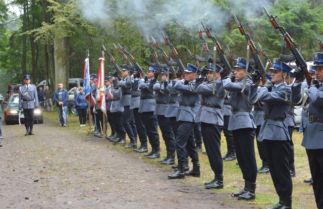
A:
<svg viewBox="0 0 323 209">
<path fill-rule="evenodd" d="M 178 164 L 184 165 L 186 153 L 192 159 L 192 163 L 198 163 L 198 153 L 194 140 L 194 122 L 179 121 L 176 137 L 176 152 Z"/>
</svg>

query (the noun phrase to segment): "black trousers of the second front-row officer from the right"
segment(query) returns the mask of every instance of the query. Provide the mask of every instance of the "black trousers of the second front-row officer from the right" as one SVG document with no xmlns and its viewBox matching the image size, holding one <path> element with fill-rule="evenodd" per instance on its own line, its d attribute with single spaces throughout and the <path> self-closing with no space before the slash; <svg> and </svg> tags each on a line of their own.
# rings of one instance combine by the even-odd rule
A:
<svg viewBox="0 0 323 209">
<path fill-rule="evenodd" d="M 292 196 L 293 182 L 289 172 L 289 141 L 263 140 L 268 168 L 279 196 Z"/>
</svg>

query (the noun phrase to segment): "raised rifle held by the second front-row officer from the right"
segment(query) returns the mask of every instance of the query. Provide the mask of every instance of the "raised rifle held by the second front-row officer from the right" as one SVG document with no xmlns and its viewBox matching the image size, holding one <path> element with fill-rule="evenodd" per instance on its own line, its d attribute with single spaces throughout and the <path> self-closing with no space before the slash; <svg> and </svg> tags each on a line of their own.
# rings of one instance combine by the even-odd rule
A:
<svg viewBox="0 0 323 209">
<path fill-rule="evenodd" d="M 248 44 L 250 45 L 250 50 L 251 50 L 251 54 L 252 54 L 252 57 L 254 59 L 254 62 L 255 62 L 255 65 L 256 65 L 256 68 L 260 71 L 261 73 L 261 80 L 262 80 L 262 83 L 265 83 L 266 82 L 266 78 L 265 78 L 265 69 L 263 67 L 263 64 L 260 60 L 260 56 L 259 56 L 259 53 L 258 53 L 258 50 L 256 48 L 256 46 L 254 45 L 252 39 L 250 38 L 250 35 L 248 33 L 245 32 L 244 28 L 243 28 L 243 25 L 241 23 L 239 23 L 237 17 L 235 15 L 234 16 L 234 19 L 238 25 L 238 29 L 241 33 L 241 35 L 244 35 L 247 39 L 247 42 Z"/>
</svg>

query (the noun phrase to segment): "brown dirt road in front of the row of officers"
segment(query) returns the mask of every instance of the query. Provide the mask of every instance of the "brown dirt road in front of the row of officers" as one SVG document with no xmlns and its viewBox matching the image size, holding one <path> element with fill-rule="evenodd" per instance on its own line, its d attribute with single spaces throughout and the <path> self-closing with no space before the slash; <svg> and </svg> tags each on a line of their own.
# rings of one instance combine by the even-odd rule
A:
<svg viewBox="0 0 323 209">
<path fill-rule="evenodd" d="M 204 189 L 202 181 L 168 180 L 170 168 L 68 128 L 40 124 L 24 136 L 23 126 L 3 126 L 0 208 L 253 207 Z"/>
</svg>

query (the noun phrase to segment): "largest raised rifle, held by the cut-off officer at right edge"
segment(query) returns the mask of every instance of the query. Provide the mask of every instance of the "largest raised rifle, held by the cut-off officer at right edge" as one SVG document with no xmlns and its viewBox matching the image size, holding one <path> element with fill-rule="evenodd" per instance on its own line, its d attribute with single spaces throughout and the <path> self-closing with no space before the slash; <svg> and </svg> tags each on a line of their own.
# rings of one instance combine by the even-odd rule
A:
<svg viewBox="0 0 323 209">
<path fill-rule="evenodd" d="M 288 55 L 288 56 L 284 56 L 281 55 L 280 56 L 280 60 L 283 62 L 291 62 L 295 60 L 295 63 L 298 67 L 300 67 L 303 71 L 304 71 L 304 75 L 306 78 L 306 82 L 308 85 L 310 85 L 312 77 L 309 75 L 308 70 L 307 70 L 307 64 L 303 58 L 303 56 L 300 54 L 296 44 L 294 43 L 293 39 L 291 38 L 291 36 L 285 31 L 285 29 L 283 28 L 283 26 L 280 26 L 277 21 L 276 21 L 276 17 L 277 16 L 272 16 L 270 15 L 266 8 L 263 7 L 264 12 L 266 13 L 266 15 L 268 16 L 268 18 L 270 19 L 272 25 L 274 26 L 275 29 L 279 29 L 279 31 L 281 32 L 281 34 L 283 35 L 283 38 L 285 40 L 285 45 L 287 46 L 287 48 L 291 51 L 292 55 Z"/>
</svg>

